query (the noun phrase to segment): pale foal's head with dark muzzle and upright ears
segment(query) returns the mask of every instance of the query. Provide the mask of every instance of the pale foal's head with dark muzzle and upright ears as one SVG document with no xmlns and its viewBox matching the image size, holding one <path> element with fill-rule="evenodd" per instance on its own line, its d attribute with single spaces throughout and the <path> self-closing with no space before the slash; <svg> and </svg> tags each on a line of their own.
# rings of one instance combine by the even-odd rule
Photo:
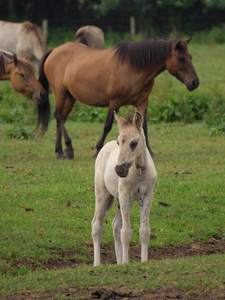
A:
<svg viewBox="0 0 225 300">
<path fill-rule="evenodd" d="M 136 112 L 133 118 L 124 119 L 116 113 L 115 117 L 119 125 L 117 143 L 120 148 L 115 171 L 118 176 L 126 177 L 132 165 L 136 168 L 143 167 L 143 151 L 146 150 L 143 118 L 139 112 Z"/>
</svg>

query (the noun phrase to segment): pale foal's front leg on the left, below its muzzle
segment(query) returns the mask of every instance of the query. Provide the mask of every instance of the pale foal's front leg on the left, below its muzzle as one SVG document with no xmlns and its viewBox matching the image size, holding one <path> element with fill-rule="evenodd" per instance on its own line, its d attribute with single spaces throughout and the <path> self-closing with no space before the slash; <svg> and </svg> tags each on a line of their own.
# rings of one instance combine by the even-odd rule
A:
<svg viewBox="0 0 225 300">
<path fill-rule="evenodd" d="M 121 195 L 123 194 L 123 195 Z M 132 237 L 132 229 L 130 226 L 130 210 L 132 206 L 132 201 L 129 197 L 129 192 L 123 189 L 120 195 L 120 209 L 122 215 L 122 229 L 121 229 L 121 243 L 123 248 L 123 259 L 122 263 L 128 263 L 129 260 L 129 246 Z"/>
</svg>

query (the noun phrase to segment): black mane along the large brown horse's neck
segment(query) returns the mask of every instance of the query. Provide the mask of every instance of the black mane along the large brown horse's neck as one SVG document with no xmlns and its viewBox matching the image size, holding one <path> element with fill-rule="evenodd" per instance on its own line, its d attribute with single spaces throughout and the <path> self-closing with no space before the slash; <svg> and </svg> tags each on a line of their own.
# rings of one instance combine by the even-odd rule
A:
<svg viewBox="0 0 225 300">
<path fill-rule="evenodd" d="M 116 57 L 121 62 L 143 69 L 165 60 L 171 53 L 172 45 L 178 39 L 152 39 L 138 42 L 119 42 L 114 46 Z"/>
</svg>

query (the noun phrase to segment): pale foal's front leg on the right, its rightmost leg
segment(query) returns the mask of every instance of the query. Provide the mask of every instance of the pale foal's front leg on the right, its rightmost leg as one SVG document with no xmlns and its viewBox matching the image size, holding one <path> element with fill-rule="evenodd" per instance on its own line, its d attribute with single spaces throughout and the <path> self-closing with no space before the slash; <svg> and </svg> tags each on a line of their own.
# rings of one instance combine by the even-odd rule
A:
<svg viewBox="0 0 225 300">
<path fill-rule="evenodd" d="M 148 243 L 150 239 L 149 215 L 152 205 L 153 193 L 150 192 L 139 198 L 140 204 L 140 230 L 139 236 L 141 240 L 141 261 L 148 260 Z"/>
</svg>

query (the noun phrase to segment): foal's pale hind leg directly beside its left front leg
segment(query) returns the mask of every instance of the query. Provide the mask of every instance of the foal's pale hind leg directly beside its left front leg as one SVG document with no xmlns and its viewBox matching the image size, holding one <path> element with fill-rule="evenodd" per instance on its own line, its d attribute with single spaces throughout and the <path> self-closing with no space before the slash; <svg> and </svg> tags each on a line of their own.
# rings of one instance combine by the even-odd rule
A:
<svg viewBox="0 0 225 300">
<path fill-rule="evenodd" d="M 118 208 L 116 216 L 112 222 L 113 226 L 113 235 L 115 241 L 115 252 L 116 252 L 116 261 L 118 265 L 121 265 L 123 262 L 123 250 L 121 243 L 121 228 L 122 228 L 122 216 L 120 208 Z"/>
</svg>

